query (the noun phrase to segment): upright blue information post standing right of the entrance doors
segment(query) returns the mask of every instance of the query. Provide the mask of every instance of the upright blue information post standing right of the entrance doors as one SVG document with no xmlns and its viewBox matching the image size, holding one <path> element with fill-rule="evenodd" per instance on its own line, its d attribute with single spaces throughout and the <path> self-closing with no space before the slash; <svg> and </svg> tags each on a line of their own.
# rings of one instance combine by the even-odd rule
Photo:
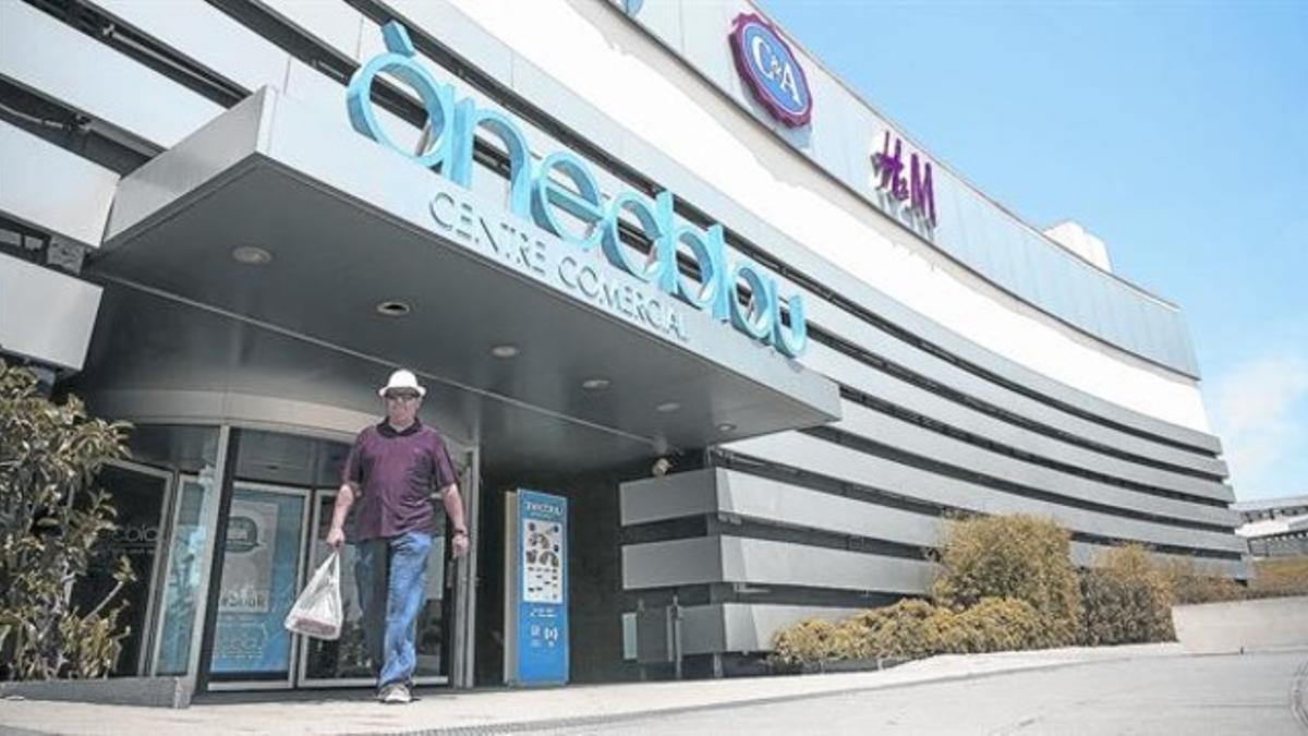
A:
<svg viewBox="0 0 1308 736">
<path fill-rule="evenodd" d="M 568 499 L 508 494 L 505 682 L 568 682 Z"/>
</svg>

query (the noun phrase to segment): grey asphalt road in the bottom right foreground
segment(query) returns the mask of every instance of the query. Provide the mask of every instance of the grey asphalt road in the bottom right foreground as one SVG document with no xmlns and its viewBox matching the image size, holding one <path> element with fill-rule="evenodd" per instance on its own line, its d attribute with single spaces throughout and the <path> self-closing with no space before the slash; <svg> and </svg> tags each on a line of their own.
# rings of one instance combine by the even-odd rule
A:
<svg viewBox="0 0 1308 736">
<path fill-rule="evenodd" d="M 1304 735 L 1305 690 L 1308 651 L 1295 650 L 1088 663 L 540 733 Z"/>
</svg>

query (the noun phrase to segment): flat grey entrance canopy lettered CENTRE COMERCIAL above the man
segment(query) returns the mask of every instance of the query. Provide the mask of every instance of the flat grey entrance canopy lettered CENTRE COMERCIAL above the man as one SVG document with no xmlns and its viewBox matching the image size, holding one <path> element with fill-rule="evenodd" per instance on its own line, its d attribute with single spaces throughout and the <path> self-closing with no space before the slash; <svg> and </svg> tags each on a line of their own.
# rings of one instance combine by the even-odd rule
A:
<svg viewBox="0 0 1308 736">
<path fill-rule="evenodd" d="M 838 418 L 828 378 L 341 120 L 251 96 L 124 178 L 94 271 L 412 367 L 449 430 L 505 468 L 582 470 Z M 634 305 L 595 297 L 599 280 Z"/>
</svg>

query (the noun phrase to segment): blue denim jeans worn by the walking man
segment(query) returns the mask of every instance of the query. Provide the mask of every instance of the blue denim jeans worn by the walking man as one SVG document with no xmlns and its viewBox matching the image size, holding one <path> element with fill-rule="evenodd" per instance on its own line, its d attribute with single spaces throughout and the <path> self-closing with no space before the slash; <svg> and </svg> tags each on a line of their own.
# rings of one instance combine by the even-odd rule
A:
<svg viewBox="0 0 1308 736">
<path fill-rule="evenodd" d="M 378 667 L 378 689 L 413 684 L 417 612 L 426 589 L 426 558 L 432 536 L 407 532 L 399 537 L 357 543 L 354 578 L 364 610 L 364 643 Z"/>
</svg>

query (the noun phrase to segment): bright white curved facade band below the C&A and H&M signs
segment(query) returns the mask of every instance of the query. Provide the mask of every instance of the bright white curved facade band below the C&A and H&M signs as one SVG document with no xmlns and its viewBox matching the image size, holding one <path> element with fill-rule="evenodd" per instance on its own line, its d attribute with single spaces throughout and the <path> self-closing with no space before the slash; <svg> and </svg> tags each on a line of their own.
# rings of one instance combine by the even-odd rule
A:
<svg viewBox="0 0 1308 736">
<path fill-rule="evenodd" d="M 595 17 L 568 5 L 455 4 L 619 124 L 640 131 L 654 148 L 678 161 L 714 161 L 697 174 L 746 210 L 766 212 L 773 227 L 829 265 L 986 348 L 1079 390 L 1167 422 L 1209 430 L 1197 390 L 1175 405 L 1159 402 L 1158 389 L 1165 380 L 1158 368 L 1104 346 L 1086 344 L 1035 308 L 1014 304 L 984 279 L 940 268 L 938 254 L 891 242 L 865 225 L 861 216 L 835 204 L 848 194 L 837 194 L 831 181 L 807 165 L 765 166 L 759 151 L 776 147 L 776 141 L 765 131 L 723 122 L 736 114 L 732 103 L 705 103 L 712 97 L 688 93 L 687 88 L 704 84 L 692 72 L 676 73 L 674 68 L 668 73 L 666 65 L 655 67 L 641 55 L 620 51 L 621 45 L 615 45 L 610 34 L 636 42 L 633 34 L 638 31 L 617 22 L 616 14 L 613 22 L 600 28 Z M 556 43 L 557 38 L 568 38 L 569 43 Z M 599 67 L 608 73 L 594 73 Z M 659 111 L 659 124 L 650 124 L 651 109 Z M 776 161 L 769 157 L 769 162 Z M 663 183 L 674 190 L 678 185 Z M 748 232 L 740 223 L 723 224 Z M 773 244 L 764 245 L 773 249 Z M 793 261 L 790 253 L 773 251 Z"/>
</svg>

